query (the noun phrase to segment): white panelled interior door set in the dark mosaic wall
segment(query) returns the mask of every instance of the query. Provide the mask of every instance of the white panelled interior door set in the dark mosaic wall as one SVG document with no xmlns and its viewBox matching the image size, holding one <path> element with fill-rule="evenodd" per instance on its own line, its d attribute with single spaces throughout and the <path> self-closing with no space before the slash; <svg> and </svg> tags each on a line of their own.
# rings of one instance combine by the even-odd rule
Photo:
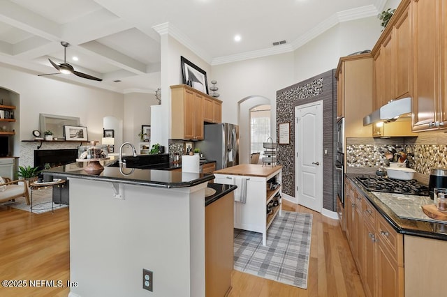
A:
<svg viewBox="0 0 447 297">
<path fill-rule="evenodd" d="M 323 101 L 295 107 L 295 197 L 321 213 L 323 205 Z"/>
</svg>

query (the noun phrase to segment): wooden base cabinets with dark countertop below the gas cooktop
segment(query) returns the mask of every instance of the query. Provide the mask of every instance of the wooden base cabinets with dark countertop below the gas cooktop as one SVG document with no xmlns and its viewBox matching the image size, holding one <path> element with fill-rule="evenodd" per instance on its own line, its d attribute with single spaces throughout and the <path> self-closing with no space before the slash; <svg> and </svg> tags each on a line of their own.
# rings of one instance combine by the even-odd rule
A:
<svg viewBox="0 0 447 297">
<path fill-rule="evenodd" d="M 362 175 L 346 174 L 345 180 L 346 238 L 366 295 L 444 296 L 439 284 L 447 269 L 447 222 L 424 219 L 422 208 L 415 219 L 400 217 L 393 211 L 394 199 L 405 204 L 428 200 L 414 195 L 383 199 L 356 176 Z"/>
</svg>

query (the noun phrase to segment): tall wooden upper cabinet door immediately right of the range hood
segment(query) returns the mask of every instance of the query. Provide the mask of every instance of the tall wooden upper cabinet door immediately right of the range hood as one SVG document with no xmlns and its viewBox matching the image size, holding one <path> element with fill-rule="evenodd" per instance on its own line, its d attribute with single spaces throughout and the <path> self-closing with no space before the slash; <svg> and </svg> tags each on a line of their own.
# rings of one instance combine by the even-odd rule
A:
<svg viewBox="0 0 447 297">
<path fill-rule="evenodd" d="M 439 6 L 443 0 L 413 1 L 413 130 L 437 129 L 439 121 Z"/>
</svg>

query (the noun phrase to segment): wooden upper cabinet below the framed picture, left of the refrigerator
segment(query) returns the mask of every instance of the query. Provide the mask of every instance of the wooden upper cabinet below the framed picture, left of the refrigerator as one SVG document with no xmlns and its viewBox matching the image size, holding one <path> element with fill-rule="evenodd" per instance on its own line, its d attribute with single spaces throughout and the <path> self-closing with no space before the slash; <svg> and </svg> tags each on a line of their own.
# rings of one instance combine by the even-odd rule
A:
<svg viewBox="0 0 447 297">
<path fill-rule="evenodd" d="M 186 86 L 171 86 L 171 138 L 203 139 L 203 95 Z"/>
</svg>

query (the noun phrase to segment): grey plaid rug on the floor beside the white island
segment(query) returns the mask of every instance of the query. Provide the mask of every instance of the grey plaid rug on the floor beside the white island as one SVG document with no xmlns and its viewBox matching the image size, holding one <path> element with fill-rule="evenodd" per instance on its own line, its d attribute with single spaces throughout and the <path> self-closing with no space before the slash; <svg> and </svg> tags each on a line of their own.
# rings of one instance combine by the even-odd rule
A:
<svg viewBox="0 0 447 297">
<path fill-rule="evenodd" d="M 312 214 L 283 211 L 267 231 L 235 229 L 234 268 L 269 280 L 307 289 Z"/>
</svg>

